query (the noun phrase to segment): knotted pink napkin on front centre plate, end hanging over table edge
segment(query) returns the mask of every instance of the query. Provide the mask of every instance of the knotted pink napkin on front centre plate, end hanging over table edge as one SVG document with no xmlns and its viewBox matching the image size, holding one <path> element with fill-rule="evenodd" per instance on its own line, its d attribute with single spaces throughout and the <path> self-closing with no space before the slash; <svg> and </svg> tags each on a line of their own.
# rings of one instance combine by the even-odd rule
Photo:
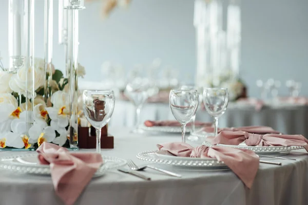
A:
<svg viewBox="0 0 308 205">
<path fill-rule="evenodd" d="M 259 168 L 259 157 L 251 150 L 204 145 L 194 148 L 182 142 L 163 143 L 157 147 L 180 157 L 210 157 L 223 161 L 248 188 L 252 187 Z"/>
</svg>

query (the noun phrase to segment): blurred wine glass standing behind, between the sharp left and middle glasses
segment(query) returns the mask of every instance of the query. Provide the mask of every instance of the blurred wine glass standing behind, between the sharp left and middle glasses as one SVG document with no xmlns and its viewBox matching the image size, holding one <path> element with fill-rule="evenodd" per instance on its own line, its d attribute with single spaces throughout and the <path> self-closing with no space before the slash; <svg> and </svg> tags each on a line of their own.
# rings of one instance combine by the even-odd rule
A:
<svg viewBox="0 0 308 205">
<path fill-rule="evenodd" d="M 152 91 L 148 79 L 144 78 L 135 78 L 126 85 L 125 95 L 134 104 L 136 109 L 135 128 L 132 130 L 132 133 L 142 132 L 139 128 L 141 108 L 149 95 L 152 95 Z"/>
</svg>

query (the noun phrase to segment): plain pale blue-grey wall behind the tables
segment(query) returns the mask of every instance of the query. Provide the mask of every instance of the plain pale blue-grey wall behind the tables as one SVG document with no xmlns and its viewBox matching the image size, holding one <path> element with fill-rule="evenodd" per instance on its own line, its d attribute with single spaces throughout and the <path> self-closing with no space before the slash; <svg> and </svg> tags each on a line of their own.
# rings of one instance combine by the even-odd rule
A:
<svg viewBox="0 0 308 205">
<path fill-rule="evenodd" d="M 35 1 L 35 56 L 44 57 L 44 1 Z M 179 71 L 179 78 L 192 81 L 195 71 L 195 30 L 192 0 L 134 0 L 128 9 L 117 9 L 103 21 L 101 3 L 85 5 L 80 12 L 80 62 L 86 67 L 84 80 L 100 81 L 101 64 L 113 61 L 126 70 L 136 63 L 148 64 L 160 57 Z M 8 1 L 0 0 L 0 51 L 8 65 Z M 308 1 L 243 0 L 242 65 L 240 73 L 249 95 L 259 96 L 256 80 L 294 79 L 303 83 L 308 96 Z M 54 17 L 57 1 L 54 1 Z M 64 49 L 57 45 L 54 21 L 53 62 L 63 69 Z"/>
</svg>

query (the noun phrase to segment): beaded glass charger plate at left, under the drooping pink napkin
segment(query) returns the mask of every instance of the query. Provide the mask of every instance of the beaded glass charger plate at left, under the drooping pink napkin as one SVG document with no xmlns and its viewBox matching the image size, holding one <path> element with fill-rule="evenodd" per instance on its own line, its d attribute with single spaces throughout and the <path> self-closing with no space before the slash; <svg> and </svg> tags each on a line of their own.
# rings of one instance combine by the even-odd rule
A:
<svg viewBox="0 0 308 205">
<path fill-rule="evenodd" d="M 126 160 L 117 157 L 103 157 L 103 164 L 93 177 L 105 174 L 108 169 L 113 169 L 126 164 Z M 0 157 L 0 169 L 13 171 L 21 174 L 48 175 L 50 176 L 49 165 L 40 164 L 37 154 L 14 155 Z"/>
</svg>

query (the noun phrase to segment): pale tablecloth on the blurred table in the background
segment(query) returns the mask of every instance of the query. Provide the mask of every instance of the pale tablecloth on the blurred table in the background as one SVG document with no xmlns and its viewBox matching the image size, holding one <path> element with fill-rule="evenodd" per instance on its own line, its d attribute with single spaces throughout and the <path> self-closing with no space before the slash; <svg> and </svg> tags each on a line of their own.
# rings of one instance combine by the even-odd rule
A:
<svg viewBox="0 0 308 205">
<path fill-rule="evenodd" d="M 110 126 L 134 125 L 134 106 L 128 101 L 116 101 Z M 205 110 L 199 109 L 196 119 L 212 122 Z M 169 104 L 148 103 L 141 110 L 141 122 L 145 120 L 175 120 Z M 301 134 L 308 137 L 308 106 L 272 105 L 257 111 L 254 106 L 229 103 L 226 113 L 219 118 L 220 127 L 238 127 L 248 125 L 270 126 L 284 134 Z"/>
</svg>

